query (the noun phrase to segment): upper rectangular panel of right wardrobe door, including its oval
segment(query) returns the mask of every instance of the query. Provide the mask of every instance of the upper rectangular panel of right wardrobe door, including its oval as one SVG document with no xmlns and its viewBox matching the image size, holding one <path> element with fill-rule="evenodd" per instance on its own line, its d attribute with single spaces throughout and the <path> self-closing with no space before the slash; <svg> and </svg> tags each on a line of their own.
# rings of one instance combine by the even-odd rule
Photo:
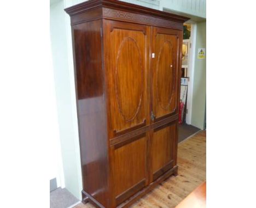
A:
<svg viewBox="0 0 256 208">
<path fill-rule="evenodd" d="M 177 113 L 179 31 L 152 27 L 152 109 L 154 121 Z"/>
</svg>

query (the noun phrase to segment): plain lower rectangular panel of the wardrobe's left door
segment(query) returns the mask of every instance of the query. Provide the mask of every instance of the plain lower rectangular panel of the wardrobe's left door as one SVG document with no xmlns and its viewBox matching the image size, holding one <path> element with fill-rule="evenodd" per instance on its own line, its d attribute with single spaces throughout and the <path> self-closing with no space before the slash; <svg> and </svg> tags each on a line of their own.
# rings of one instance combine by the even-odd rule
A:
<svg viewBox="0 0 256 208">
<path fill-rule="evenodd" d="M 115 204 L 119 205 L 146 185 L 146 134 L 115 145 L 113 180 Z"/>
</svg>

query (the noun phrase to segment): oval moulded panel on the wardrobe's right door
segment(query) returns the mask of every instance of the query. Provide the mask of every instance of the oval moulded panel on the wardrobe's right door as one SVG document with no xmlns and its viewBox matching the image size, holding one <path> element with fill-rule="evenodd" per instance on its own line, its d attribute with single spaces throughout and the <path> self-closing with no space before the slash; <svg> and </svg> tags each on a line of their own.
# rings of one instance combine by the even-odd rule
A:
<svg viewBox="0 0 256 208">
<path fill-rule="evenodd" d="M 165 41 L 160 48 L 156 70 L 159 104 L 161 108 L 168 110 L 175 86 L 173 48 L 170 41 Z"/>
</svg>

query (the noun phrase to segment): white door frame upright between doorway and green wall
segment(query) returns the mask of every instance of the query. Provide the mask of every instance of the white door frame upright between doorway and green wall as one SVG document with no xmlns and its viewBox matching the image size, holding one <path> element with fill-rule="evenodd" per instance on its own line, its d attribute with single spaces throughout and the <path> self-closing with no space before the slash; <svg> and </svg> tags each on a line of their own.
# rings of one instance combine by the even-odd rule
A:
<svg viewBox="0 0 256 208">
<path fill-rule="evenodd" d="M 187 115 L 186 123 L 191 124 L 192 118 L 192 105 L 193 105 L 193 85 L 194 85 L 194 69 L 195 69 L 195 46 L 196 46 L 196 23 L 191 23 L 191 32 L 190 32 L 190 44 L 189 48 L 189 63 L 188 63 L 188 96 L 187 96 Z"/>
</svg>

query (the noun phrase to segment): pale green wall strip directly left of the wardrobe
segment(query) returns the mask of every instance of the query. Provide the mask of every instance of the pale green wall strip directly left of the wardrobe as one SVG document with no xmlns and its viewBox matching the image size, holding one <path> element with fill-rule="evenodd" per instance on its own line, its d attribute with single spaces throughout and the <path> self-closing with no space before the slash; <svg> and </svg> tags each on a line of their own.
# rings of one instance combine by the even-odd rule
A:
<svg viewBox="0 0 256 208">
<path fill-rule="evenodd" d="M 68 63 L 68 42 L 64 1 L 50 5 L 50 36 L 65 187 L 82 198 L 82 174 L 73 79 Z M 72 69 L 73 70 L 73 69 Z"/>
</svg>

